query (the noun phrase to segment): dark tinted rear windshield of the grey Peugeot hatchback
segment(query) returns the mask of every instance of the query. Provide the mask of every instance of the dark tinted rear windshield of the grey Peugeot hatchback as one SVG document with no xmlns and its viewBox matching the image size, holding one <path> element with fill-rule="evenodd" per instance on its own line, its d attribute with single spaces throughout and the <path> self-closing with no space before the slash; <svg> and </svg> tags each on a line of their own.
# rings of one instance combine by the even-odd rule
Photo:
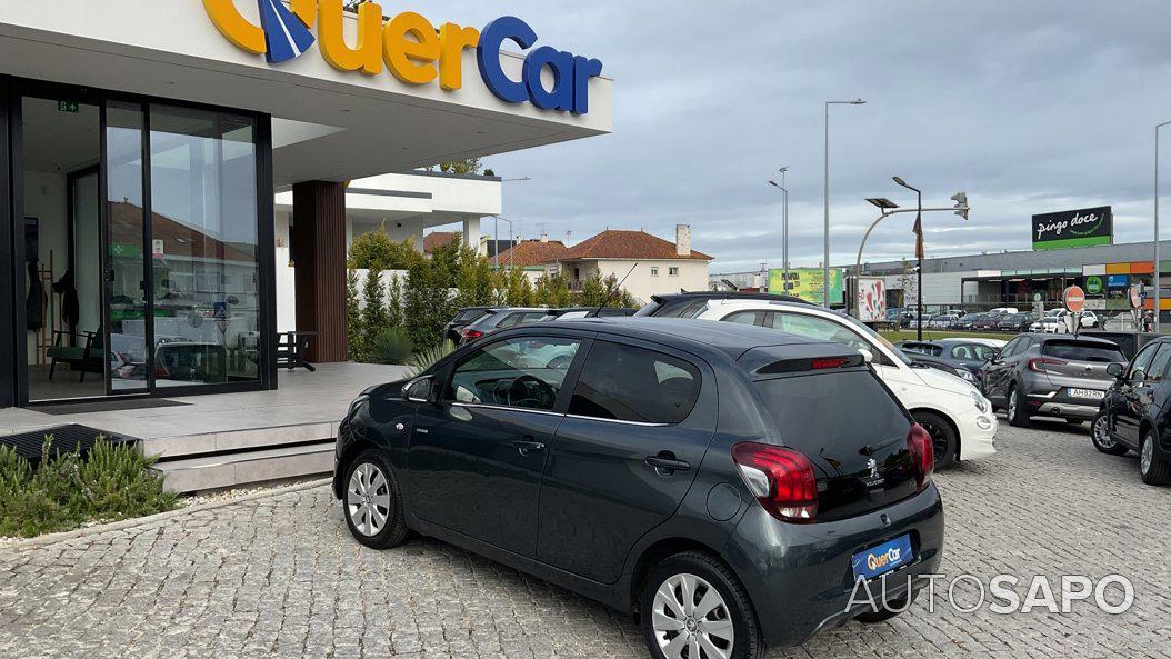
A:
<svg viewBox="0 0 1171 659">
<path fill-rule="evenodd" d="M 781 440 L 810 457 L 856 459 L 863 446 L 905 439 L 911 425 L 870 371 L 813 372 L 759 380 L 756 387 Z"/>
</svg>

